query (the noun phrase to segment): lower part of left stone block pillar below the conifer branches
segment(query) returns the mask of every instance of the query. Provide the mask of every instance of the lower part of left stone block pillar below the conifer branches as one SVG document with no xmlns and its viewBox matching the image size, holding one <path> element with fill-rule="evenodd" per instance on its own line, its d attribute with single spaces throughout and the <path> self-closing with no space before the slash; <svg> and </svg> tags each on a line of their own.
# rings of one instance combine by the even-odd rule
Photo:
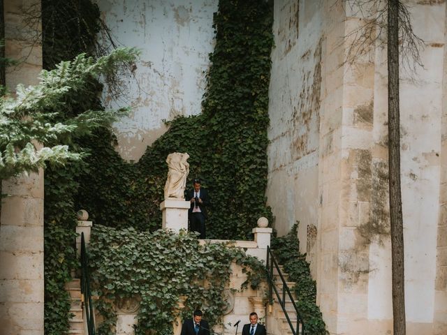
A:
<svg viewBox="0 0 447 335">
<path fill-rule="evenodd" d="M 2 186 L 0 334 L 43 335 L 43 172 Z"/>
</svg>

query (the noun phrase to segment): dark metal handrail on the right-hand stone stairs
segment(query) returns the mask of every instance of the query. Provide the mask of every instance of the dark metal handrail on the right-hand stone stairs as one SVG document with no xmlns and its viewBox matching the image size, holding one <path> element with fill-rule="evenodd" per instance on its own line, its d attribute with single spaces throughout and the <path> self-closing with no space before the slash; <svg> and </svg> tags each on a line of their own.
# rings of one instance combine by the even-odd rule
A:
<svg viewBox="0 0 447 335">
<path fill-rule="evenodd" d="M 274 280 L 273 280 L 273 266 L 275 269 L 277 269 L 279 278 L 281 278 L 282 281 L 282 295 L 279 295 L 278 288 L 276 287 Z M 297 335 L 306 335 L 307 332 L 305 330 L 305 322 L 302 320 L 300 312 L 298 311 L 298 307 L 295 304 L 295 300 L 293 299 L 293 296 L 291 294 L 291 291 L 288 289 L 286 280 L 284 279 L 284 276 L 281 273 L 281 270 L 279 269 L 279 265 L 277 260 L 274 258 L 274 255 L 272 253 L 272 249 L 270 249 L 270 246 L 267 246 L 267 271 L 268 271 L 268 286 L 269 286 L 269 301 L 270 304 L 273 304 L 273 291 L 277 296 L 277 299 L 279 301 L 279 304 L 281 305 L 282 311 L 284 312 L 284 315 L 286 315 L 286 320 L 288 322 L 288 325 L 291 327 L 292 334 Z M 293 305 L 293 308 L 295 308 L 296 313 L 296 328 L 293 327 L 291 318 L 288 316 L 288 313 L 286 311 L 286 294 L 288 295 L 288 299 L 291 300 L 291 303 Z M 300 327 L 301 326 L 301 327 Z M 300 332 L 301 330 L 301 332 Z"/>
</svg>

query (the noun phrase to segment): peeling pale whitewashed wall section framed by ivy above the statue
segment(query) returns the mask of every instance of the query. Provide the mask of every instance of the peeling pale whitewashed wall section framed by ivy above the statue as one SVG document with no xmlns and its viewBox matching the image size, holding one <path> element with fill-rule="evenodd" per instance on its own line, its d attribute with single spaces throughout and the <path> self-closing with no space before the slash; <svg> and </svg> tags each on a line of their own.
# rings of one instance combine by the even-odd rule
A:
<svg viewBox="0 0 447 335">
<path fill-rule="evenodd" d="M 217 0 L 96 0 L 119 46 L 138 47 L 141 59 L 120 105 L 132 114 L 115 124 L 119 154 L 138 161 L 166 130 L 163 120 L 201 112 L 208 54 L 214 47 Z M 123 86 L 124 87 L 124 86 Z M 115 103 L 105 96 L 111 107 Z"/>
</svg>

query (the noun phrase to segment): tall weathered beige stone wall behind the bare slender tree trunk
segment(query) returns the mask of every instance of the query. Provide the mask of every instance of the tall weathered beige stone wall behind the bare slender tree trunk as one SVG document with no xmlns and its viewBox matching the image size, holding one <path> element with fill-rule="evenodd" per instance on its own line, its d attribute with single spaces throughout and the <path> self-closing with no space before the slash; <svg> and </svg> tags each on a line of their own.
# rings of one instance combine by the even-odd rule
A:
<svg viewBox="0 0 447 335">
<path fill-rule="evenodd" d="M 386 50 L 377 40 L 344 63 L 350 33 L 363 19 L 342 2 L 275 1 L 268 202 L 279 234 L 300 221 L 300 249 L 312 262 L 329 331 L 386 334 L 393 329 Z M 446 6 L 409 4 L 425 49 L 424 68 L 401 71 L 407 334 L 444 334 L 446 190 L 439 155 Z M 309 115 L 318 115 L 318 127 Z M 313 140 L 303 145 L 305 137 Z"/>
</svg>

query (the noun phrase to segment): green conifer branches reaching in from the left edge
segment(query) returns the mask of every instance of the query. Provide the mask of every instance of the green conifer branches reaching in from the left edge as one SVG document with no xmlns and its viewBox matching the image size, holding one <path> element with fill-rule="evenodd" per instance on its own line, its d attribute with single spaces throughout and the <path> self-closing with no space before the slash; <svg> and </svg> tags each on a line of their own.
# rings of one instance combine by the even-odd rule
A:
<svg viewBox="0 0 447 335">
<path fill-rule="evenodd" d="M 115 50 L 96 61 L 80 54 L 54 70 L 43 70 L 39 84 L 18 85 L 15 97 L 4 97 L 0 101 L 0 179 L 35 172 L 46 163 L 82 158 L 82 153 L 69 149 L 73 138 L 110 124 L 125 110 L 86 110 L 67 118 L 67 99 L 71 92 L 82 93 L 92 79 L 135 56 L 131 49 Z"/>
</svg>

